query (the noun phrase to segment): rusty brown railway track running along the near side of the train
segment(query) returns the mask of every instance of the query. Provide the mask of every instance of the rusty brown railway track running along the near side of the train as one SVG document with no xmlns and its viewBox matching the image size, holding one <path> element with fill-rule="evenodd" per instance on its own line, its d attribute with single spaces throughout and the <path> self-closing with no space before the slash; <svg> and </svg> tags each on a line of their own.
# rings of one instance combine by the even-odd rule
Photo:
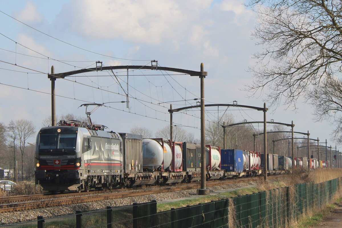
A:
<svg viewBox="0 0 342 228">
<path fill-rule="evenodd" d="M 269 176 L 269 179 L 276 178 L 276 176 Z M 218 186 L 218 185 L 228 185 L 237 183 L 246 183 L 255 181 L 255 178 L 242 178 L 242 179 L 229 179 L 229 180 L 216 180 L 207 182 L 207 187 Z M 165 193 L 170 191 L 180 191 L 197 189 L 197 183 L 190 184 L 177 184 L 172 186 L 163 187 L 146 187 L 145 189 L 131 190 L 127 189 L 116 189 L 112 191 L 93 191 L 84 193 L 67 193 L 59 195 L 51 194 L 37 194 L 37 195 L 27 195 L 27 196 L 13 196 L 13 197 L 2 197 L 0 198 L 0 213 L 2 212 L 12 212 L 12 211 L 22 211 L 29 209 L 45 208 L 52 206 L 62 206 L 77 203 L 86 203 L 100 200 L 111 200 L 132 196 L 143 196 L 151 195 L 157 193 Z M 126 190 L 126 191 L 125 191 Z"/>
</svg>

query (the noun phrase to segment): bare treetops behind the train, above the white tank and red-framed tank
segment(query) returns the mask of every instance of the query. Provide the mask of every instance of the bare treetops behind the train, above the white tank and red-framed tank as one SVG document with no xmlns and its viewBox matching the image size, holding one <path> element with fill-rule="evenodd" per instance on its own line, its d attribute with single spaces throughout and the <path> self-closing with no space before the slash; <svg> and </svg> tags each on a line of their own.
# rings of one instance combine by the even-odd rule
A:
<svg viewBox="0 0 342 228">
<path fill-rule="evenodd" d="M 170 126 L 167 125 L 156 132 L 157 138 L 170 139 Z M 195 143 L 194 133 L 187 132 L 181 126 L 175 126 L 173 128 L 173 140 L 175 142 L 188 142 Z"/>
</svg>

